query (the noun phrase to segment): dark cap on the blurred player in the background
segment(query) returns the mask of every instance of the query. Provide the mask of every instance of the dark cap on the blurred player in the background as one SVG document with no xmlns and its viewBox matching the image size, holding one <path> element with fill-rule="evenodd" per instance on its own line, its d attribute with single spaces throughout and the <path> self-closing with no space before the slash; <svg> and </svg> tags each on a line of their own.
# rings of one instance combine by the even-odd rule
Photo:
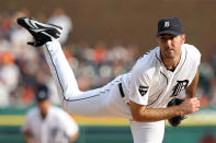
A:
<svg viewBox="0 0 216 143">
<path fill-rule="evenodd" d="M 35 93 L 36 102 L 43 102 L 49 98 L 48 87 L 46 85 L 39 85 Z"/>
</svg>

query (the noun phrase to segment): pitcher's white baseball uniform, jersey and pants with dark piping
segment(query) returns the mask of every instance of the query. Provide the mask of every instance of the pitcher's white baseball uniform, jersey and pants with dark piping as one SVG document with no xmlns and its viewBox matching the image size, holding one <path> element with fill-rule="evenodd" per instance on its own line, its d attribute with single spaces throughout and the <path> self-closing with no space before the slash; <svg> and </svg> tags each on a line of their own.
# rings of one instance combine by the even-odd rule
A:
<svg viewBox="0 0 216 143">
<path fill-rule="evenodd" d="M 130 72 L 117 76 L 103 87 L 81 92 L 60 44 L 48 41 L 44 50 L 62 107 L 78 116 L 129 119 L 135 143 L 161 143 L 164 121 L 133 121 L 129 100 L 147 105 L 147 108 L 164 108 L 172 97 L 184 95 L 182 93 L 194 79 L 201 59 L 194 46 L 183 44 L 178 67 L 169 71 L 157 47 L 139 58 Z"/>
</svg>

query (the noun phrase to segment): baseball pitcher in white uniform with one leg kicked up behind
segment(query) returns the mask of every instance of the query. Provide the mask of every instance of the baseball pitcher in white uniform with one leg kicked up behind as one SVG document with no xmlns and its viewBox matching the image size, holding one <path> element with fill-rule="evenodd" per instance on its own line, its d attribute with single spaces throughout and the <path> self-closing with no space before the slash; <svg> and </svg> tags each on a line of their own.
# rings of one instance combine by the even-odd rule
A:
<svg viewBox="0 0 216 143">
<path fill-rule="evenodd" d="M 78 116 L 127 118 L 134 143 L 161 143 L 166 119 L 181 120 L 200 108 L 195 87 L 201 53 L 184 44 L 178 17 L 159 20 L 159 46 L 140 57 L 128 73 L 91 91 L 78 87 L 58 41 L 61 27 L 29 17 L 20 17 L 18 23 L 33 35 L 35 40 L 29 45 L 43 46 L 62 108 Z M 168 107 L 175 98 L 184 100 Z"/>
</svg>

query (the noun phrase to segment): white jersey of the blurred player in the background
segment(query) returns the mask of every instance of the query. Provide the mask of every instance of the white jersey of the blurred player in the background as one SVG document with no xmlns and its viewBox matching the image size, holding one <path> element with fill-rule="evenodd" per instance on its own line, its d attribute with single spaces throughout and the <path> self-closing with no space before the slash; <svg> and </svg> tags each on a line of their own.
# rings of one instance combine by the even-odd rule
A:
<svg viewBox="0 0 216 143">
<path fill-rule="evenodd" d="M 22 132 L 30 131 L 35 143 L 68 143 L 68 136 L 79 130 L 72 118 L 58 107 L 50 106 L 46 118 L 37 107 L 26 114 Z"/>
</svg>

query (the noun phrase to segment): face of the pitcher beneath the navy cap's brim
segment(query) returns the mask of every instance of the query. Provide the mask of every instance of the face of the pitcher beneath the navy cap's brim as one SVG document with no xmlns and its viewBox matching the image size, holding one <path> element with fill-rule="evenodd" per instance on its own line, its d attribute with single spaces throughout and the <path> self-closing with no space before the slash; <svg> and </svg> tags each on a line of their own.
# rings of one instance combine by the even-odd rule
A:
<svg viewBox="0 0 216 143">
<path fill-rule="evenodd" d="M 163 34 L 158 36 L 161 56 L 163 59 L 174 59 L 181 56 L 181 45 L 185 35 Z"/>
</svg>

